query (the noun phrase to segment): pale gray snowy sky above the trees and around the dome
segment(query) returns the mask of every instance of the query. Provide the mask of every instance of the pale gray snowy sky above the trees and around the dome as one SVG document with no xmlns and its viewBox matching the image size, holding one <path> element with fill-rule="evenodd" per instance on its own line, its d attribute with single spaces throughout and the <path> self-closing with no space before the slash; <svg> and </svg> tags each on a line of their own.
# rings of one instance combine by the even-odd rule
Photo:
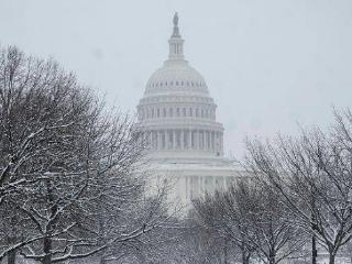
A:
<svg viewBox="0 0 352 264">
<path fill-rule="evenodd" d="M 135 111 L 166 59 L 179 13 L 185 55 L 205 77 L 226 128 L 245 135 L 326 125 L 352 107 L 351 0 L 0 0 L 0 43 L 52 56 L 79 80 Z"/>
</svg>

